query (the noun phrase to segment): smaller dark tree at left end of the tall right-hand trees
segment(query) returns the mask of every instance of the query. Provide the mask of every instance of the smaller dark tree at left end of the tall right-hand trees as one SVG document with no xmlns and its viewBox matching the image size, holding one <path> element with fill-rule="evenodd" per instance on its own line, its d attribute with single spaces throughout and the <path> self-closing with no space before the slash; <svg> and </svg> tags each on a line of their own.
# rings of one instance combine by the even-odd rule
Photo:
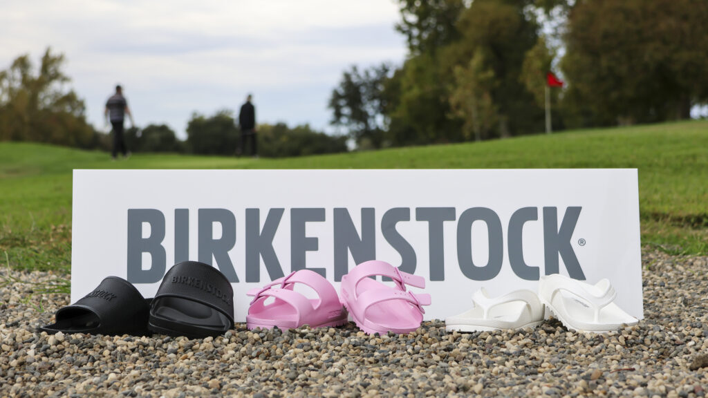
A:
<svg viewBox="0 0 708 398">
<path fill-rule="evenodd" d="M 347 126 L 350 136 L 360 145 L 366 140 L 373 147 L 382 146 L 382 132 L 388 123 L 384 87 L 390 70 L 385 63 L 364 72 L 353 66 L 343 73 L 339 86 L 332 91 L 331 124 Z"/>
</svg>

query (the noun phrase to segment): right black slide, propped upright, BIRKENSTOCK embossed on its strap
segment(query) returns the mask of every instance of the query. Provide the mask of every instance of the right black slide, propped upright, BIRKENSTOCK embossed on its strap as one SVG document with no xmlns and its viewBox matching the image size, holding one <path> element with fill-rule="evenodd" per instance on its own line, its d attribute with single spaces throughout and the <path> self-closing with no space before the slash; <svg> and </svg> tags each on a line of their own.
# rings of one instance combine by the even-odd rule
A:
<svg viewBox="0 0 708 398">
<path fill-rule="evenodd" d="M 183 261 L 167 271 L 152 301 L 148 329 L 200 339 L 234 327 L 234 290 L 212 266 Z"/>
</svg>

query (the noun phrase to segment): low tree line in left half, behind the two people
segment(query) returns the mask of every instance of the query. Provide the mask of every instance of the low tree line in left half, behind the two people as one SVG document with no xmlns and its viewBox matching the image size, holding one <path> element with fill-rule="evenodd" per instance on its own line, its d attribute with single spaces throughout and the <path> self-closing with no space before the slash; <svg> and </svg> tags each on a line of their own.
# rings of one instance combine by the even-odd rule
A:
<svg viewBox="0 0 708 398">
<path fill-rule="evenodd" d="M 33 141 L 81 149 L 110 151 L 109 135 L 86 122 L 84 101 L 69 89 L 62 72 L 64 55 L 47 49 L 37 68 L 28 55 L 17 57 L 0 71 L 0 141 Z M 232 156 L 239 146 L 239 127 L 231 110 L 214 115 L 193 113 L 182 141 L 167 125 L 150 124 L 125 131 L 133 152 L 177 152 Z M 309 125 L 258 125 L 259 154 L 296 157 L 346 152 L 347 137 L 327 135 Z"/>
</svg>

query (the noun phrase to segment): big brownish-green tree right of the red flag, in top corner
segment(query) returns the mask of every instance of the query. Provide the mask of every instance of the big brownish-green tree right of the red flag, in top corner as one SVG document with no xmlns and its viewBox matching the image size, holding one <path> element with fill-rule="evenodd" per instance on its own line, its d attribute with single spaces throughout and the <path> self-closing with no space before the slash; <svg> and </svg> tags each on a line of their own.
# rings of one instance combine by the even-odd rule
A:
<svg viewBox="0 0 708 398">
<path fill-rule="evenodd" d="M 567 108 L 588 125 L 690 117 L 708 101 L 708 2 L 577 1 L 569 12 Z"/>
</svg>

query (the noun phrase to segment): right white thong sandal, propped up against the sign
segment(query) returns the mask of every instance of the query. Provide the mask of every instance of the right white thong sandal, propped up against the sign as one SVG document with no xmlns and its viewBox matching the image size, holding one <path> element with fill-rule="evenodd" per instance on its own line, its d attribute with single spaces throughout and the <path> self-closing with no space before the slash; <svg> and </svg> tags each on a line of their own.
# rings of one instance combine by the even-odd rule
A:
<svg viewBox="0 0 708 398">
<path fill-rule="evenodd" d="M 606 333 L 639 322 L 615 304 L 617 292 L 607 279 L 590 285 L 564 275 L 544 275 L 539 280 L 538 295 L 568 329 Z"/>
</svg>

